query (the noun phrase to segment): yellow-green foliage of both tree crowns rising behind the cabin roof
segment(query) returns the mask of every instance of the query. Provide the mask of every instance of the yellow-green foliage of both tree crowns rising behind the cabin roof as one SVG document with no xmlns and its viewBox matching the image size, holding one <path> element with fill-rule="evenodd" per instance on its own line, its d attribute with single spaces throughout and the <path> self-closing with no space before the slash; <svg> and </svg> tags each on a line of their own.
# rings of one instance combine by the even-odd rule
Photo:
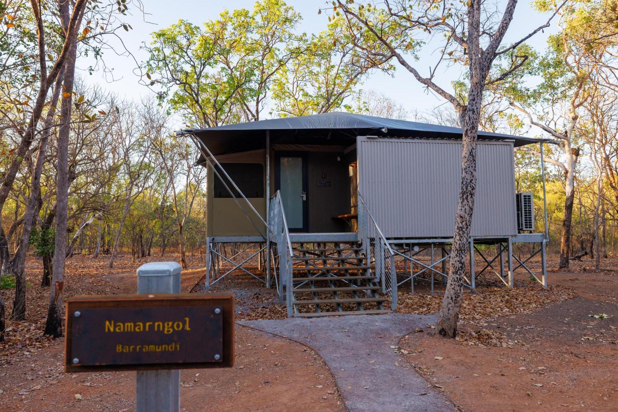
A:
<svg viewBox="0 0 618 412">
<path fill-rule="evenodd" d="M 297 34 L 300 20 L 282 0 L 226 10 L 202 26 L 179 20 L 145 47 L 148 85 L 188 126 L 211 127 L 258 120 L 267 101 L 279 116 L 345 107 L 371 69 L 392 71 L 388 59 L 358 53 L 343 19 L 315 35 Z"/>
</svg>

